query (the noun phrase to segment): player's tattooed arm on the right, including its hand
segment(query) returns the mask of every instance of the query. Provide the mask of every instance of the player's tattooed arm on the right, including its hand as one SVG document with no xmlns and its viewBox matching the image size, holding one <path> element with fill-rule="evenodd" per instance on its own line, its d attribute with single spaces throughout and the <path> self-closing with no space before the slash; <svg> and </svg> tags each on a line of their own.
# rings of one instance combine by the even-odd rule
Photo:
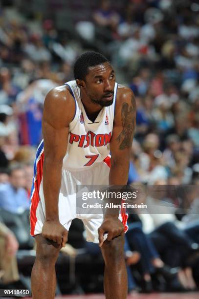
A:
<svg viewBox="0 0 199 299">
<path fill-rule="evenodd" d="M 136 103 L 134 94 L 127 87 L 118 88 L 115 117 L 112 137 L 110 141 L 111 169 L 109 174 L 110 185 L 126 185 L 129 175 L 130 152 L 135 129 Z M 106 211 L 104 221 L 99 228 L 100 246 L 103 244 L 103 235 L 108 232 L 107 239 L 122 235 L 124 227 L 118 219 L 119 210 Z"/>
</svg>

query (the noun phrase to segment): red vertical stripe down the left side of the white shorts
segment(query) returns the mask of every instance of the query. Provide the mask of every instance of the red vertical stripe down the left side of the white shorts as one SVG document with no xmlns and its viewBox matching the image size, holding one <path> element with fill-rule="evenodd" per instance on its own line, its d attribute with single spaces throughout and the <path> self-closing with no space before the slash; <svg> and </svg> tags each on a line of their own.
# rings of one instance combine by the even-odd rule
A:
<svg viewBox="0 0 199 299">
<path fill-rule="evenodd" d="M 37 174 L 34 182 L 34 192 L 31 198 L 30 208 L 30 235 L 34 236 L 35 225 L 37 223 L 36 211 L 40 201 L 39 191 L 40 184 L 43 176 L 43 165 L 44 165 L 44 152 L 41 154 L 39 161 L 37 162 Z"/>
</svg>

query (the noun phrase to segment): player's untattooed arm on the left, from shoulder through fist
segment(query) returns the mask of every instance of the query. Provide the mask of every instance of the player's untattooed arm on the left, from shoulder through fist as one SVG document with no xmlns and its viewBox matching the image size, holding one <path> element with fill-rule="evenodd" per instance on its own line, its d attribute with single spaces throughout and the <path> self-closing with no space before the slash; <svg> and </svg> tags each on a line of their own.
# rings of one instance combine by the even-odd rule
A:
<svg viewBox="0 0 199 299">
<path fill-rule="evenodd" d="M 67 231 L 59 222 L 58 198 L 63 158 L 67 150 L 69 123 L 75 113 L 75 102 L 65 86 L 52 89 L 46 96 L 43 115 L 44 167 L 43 188 L 45 218 L 42 235 L 64 246 Z"/>
</svg>

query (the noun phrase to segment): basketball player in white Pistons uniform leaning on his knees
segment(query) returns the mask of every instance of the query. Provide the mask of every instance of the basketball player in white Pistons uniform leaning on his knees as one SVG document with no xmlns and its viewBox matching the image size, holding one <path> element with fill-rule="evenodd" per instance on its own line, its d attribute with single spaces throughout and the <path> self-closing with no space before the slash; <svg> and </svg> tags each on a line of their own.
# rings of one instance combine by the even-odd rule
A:
<svg viewBox="0 0 199 299">
<path fill-rule="evenodd" d="M 37 150 L 30 208 L 31 235 L 37 243 L 32 295 L 54 298 L 55 262 L 72 219 L 80 218 L 87 240 L 101 247 L 106 298 L 125 299 L 123 246 L 128 216 L 76 214 L 75 192 L 76 184 L 127 184 L 135 99 L 131 89 L 115 83 L 110 62 L 99 53 L 81 55 L 74 78 L 52 89 L 44 103 L 44 141 Z"/>
</svg>

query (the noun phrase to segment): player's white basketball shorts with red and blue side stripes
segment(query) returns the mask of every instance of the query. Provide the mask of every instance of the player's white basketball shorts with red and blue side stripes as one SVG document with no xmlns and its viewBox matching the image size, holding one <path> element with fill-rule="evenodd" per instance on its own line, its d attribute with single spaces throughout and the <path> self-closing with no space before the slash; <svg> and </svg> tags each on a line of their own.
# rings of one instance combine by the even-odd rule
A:
<svg viewBox="0 0 199 299">
<path fill-rule="evenodd" d="M 83 171 L 68 171 L 62 169 L 62 183 L 59 194 L 59 220 L 69 230 L 74 218 L 82 219 L 87 233 L 87 241 L 99 243 L 98 228 L 103 221 L 103 214 L 76 214 L 76 185 L 108 185 L 110 160 L 108 156 L 102 163 L 93 165 Z M 43 192 L 43 143 L 37 150 L 35 160 L 35 176 L 31 191 L 30 225 L 32 236 L 42 233 L 45 222 L 45 202 Z M 49 186 L 50 188 L 50 186 Z M 128 230 L 128 214 L 121 211 L 119 219 L 124 225 L 124 231 Z"/>
</svg>

